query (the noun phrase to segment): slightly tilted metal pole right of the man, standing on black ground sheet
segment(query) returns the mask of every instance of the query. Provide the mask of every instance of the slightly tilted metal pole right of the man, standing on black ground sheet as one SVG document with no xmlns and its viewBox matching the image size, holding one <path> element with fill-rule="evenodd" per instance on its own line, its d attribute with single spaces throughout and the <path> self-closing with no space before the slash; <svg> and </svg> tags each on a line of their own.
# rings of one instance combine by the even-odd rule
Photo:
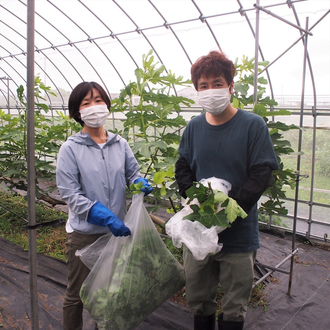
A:
<svg viewBox="0 0 330 330">
<path fill-rule="evenodd" d="M 308 17 L 306 17 L 306 30 L 308 29 Z M 302 80 L 302 91 L 301 91 L 301 104 L 300 104 L 300 124 L 299 127 L 303 127 L 303 113 L 304 113 L 304 97 L 305 97 L 305 77 L 306 77 L 306 62 L 307 62 L 307 36 L 305 33 L 305 44 L 304 44 L 304 65 L 303 65 L 303 80 Z M 299 130 L 299 140 L 298 140 L 298 152 L 301 151 L 301 140 L 302 140 L 302 130 Z M 300 171 L 300 155 L 297 157 L 297 171 Z M 298 174 L 299 175 L 299 174 Z M 296 226 L 297 226 L 297 208 L 298 208 L 298 190 L 299 190 L 299 176 L 296 181 L 296 191 L 295 191 L 295 202 L 294 202 L 294 215 L 293 215 L 293 233 L 292 233 L 292 251 L 295 249 L 296 244 Z M 290 264 L 290 275 L 289 275 L 289 285 L 287 294 L 290 295 L 291 284 L 292 284 L 292 271 L 294 264 L 294 256 L 291 257 Z"/>
</svg>

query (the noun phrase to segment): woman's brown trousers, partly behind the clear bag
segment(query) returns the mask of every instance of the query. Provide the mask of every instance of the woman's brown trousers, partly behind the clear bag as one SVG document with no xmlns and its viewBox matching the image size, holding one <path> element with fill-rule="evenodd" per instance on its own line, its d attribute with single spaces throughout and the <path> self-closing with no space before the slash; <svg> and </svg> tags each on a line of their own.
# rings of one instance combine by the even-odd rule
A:
<svg viewBox="0 0 330 330">
<path fill-rule="evenodd" d="M 82 309 L 83 304 L 80 299 L 80 289 L 90 270 L 79 257 L 75 255 L 77 250 L 81 250 L 89 244 L 94 243 L 104 234 L 84 235 L 77 232 L 68 233 L 66 246 L 66 257 L 69 269 L 68 281 L 64 301 L 63 301 L 63 330 L 82 329 Z"/>
</svg>

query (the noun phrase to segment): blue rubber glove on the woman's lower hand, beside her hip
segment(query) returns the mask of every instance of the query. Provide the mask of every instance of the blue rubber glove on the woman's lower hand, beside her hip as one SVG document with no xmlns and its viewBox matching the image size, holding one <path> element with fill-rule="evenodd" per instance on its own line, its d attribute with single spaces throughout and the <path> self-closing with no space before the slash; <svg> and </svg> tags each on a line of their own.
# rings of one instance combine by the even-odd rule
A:
<svg viewBox="0 0 330 330">
<path fill-rule="evenodd" d="M 108 226 L 114 236 L 129 236 L 131 231 L 102 203 L 96 202 L 89 210 L 87 222 L 98 226 Z"/>
</svg>

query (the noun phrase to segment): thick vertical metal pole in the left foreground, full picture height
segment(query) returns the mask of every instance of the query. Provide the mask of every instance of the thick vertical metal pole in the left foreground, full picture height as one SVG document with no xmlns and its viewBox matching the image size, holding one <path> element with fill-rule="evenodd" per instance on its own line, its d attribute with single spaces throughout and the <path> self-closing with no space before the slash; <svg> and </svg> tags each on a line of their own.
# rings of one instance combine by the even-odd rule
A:
<svg viewBox="0 0 330 330">
<path fill-rule="evenodd" d="M 36 224 L 35 162 L 34 162 L 34 0 L 27 1 L 27 203 L 28 225 Z M 39 329 L 37 296 L 36 230 L 29 229 L 30 306 L 33 330 Z"/>
</svg>

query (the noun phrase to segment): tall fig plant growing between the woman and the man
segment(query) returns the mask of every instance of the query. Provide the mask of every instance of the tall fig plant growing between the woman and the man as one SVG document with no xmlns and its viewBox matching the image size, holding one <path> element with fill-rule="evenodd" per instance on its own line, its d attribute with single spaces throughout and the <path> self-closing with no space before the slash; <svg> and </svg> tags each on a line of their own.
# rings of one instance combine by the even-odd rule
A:
<svg viewBox="0 0 330 330">
<path fill-rule="evenodd" d="M 176 212 L 178 207 L 173 201 L 179 195 L 173 169 L 179 157 L 178 130 L 186 122 L 181 115 L 173 116 L 173 112 L 179 113 L 182 105 L 190 107 L 194 101 L 173 92 L 175 86 L 188 86 L 191 82 L 171 71 L 166 73 L 164 65 L 154 62 L 152 50 L 143 55 L 142 64 L 135 70 L 136 82 L 121 89 L 112 102 L 112 110 L 125 114 L 124 129 L 119 133 L 129 142 L 145 177 L 153 186 L 160 186 L 155 186 L 152 194 L 169 199 Z M 131 186 L 133 190 L 138 188 Z M 155 205 L 153 211 L 159 207 Z"/>
</svg>

